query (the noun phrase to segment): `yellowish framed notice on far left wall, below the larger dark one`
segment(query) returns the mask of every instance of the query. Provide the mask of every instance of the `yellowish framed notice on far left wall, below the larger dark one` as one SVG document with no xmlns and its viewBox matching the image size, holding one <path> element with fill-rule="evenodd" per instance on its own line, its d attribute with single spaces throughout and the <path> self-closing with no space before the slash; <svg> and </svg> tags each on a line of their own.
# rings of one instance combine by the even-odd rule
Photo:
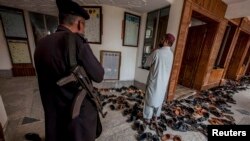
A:
<svg viewBox="0 0 250 141">
<path fill-rule="evenodd" d="M 26 40 L 7 39 L 7 43 L 13 64 L 31 63 L 29 46 Z"/>
</svg>

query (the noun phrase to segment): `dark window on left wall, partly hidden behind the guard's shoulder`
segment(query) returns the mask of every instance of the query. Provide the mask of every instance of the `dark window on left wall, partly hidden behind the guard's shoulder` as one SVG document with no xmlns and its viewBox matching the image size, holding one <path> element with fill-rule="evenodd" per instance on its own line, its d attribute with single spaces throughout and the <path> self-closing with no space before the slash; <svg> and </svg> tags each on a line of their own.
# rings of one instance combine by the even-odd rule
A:
<svg viewBox="0 0 250 141">
<path fill-rule="evenodd" d="M 35 43 L 41 38 L 54 33 L 58 26 L 58 18 L 50 15 L 44 15 L 29 12 Z"/>
</svg>

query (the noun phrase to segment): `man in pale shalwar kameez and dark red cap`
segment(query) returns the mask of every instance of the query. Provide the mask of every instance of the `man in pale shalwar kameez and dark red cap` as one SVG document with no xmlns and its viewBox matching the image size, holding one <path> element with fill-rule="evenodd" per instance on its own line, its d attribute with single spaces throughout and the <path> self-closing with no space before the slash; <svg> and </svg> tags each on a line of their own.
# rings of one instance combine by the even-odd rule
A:
<svg viewBox="0 0 250 141">
<path fill-rule="evenodd" d="M 153 51 L 147 58 L 145 67 L 149 66 L 150 72 L 143 108 L 143 118 L 146 123 L 149 123 L 152 117 L 160 116 L 173 64 L 171 46 L 174 41 L 175 37 L 172 34 L 165 34 L 159 45 L 161 48 Z"/>
</svg>

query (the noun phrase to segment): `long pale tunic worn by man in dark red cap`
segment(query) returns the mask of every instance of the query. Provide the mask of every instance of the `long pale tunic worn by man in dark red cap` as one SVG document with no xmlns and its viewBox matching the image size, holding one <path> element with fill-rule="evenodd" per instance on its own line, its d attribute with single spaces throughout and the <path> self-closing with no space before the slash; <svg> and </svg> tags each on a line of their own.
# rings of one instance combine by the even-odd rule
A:
<svg viewBox="0 0 250 141">
<path fill-rule="evenodd" d="M 147 58 L 145 66 L 151 66 L 148 75 L 145 102 L 148 106 L 159 107 L 165 99 L 173 64 L 170 47 L 155 50 Z"/>
</svg>

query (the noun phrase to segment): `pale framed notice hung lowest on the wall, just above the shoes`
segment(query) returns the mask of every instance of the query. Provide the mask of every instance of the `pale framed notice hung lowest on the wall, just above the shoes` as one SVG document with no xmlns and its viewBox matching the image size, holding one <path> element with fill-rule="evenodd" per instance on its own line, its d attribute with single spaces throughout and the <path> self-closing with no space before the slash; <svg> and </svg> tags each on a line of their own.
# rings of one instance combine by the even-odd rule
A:
<svg viewBox="0 0 250 141">
<path fill-rule="evenodd" d="M 119 80 L 121 52 L 101 50 L 101 64 L 104 68 L 104 80 Z"/>
</svg>

